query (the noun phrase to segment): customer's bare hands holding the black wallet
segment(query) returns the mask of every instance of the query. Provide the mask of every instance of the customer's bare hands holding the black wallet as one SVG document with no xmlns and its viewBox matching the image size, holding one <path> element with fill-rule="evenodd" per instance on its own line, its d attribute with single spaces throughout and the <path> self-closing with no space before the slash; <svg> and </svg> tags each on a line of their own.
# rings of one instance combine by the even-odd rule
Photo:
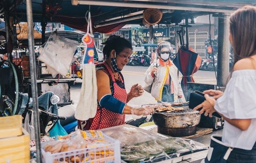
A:
<svg viewBox="0 0 256 163">
<path fill-rule="evenodd" d="M 212 97 L 209 97 L 208 94 L 205 94 L 204 97 L 205 97 L 205 101 L 200 105 L 196 106 L 193 110 L 202 108 L 199 112 L 200 114 L 205 112 L 204 116 L 207 116 L 209 114 L 209 117 L 212 117 L 212 113 L 216 112 L 216 110 L 214 109 L 216 100 Z"/>
</svg>

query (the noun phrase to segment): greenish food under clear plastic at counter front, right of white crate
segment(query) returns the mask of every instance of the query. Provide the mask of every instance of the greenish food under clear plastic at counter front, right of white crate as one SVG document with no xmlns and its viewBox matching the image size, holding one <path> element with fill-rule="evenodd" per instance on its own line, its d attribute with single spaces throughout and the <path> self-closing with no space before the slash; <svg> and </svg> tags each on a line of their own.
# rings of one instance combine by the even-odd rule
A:
<svg viewBox="0 0 256 163">
<path fill-rule="evenodd" d="M 154 163 L 159 160 L 178 157 L 184 152 L 202 149 L 207 149 L 207 147 L 200 145 L 200 143 L 198 143 L 198 146 L 195 146 L 195 143 L 190 141 L 170 137 L 164 140 L 150 140 L 130 146 L 122 146 L 121 158 L 126 163 Z"/>
</svg>

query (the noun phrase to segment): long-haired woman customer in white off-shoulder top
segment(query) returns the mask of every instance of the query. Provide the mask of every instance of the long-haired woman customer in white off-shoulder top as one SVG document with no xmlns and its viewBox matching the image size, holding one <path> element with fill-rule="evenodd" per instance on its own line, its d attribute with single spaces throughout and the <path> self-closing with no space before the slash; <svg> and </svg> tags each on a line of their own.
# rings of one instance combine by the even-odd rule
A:
<svg viewBox="0 0 256 163">
<path fill-rule="evenodd" d="M 234 148 L 228 163 L 256 163 L 256 7 L 231 14 L 229 38 L 235 60 L 225 92 L 204 91 L 206 100 L 194 110 L 225 120 L 222 142 Z"/>
</svg>

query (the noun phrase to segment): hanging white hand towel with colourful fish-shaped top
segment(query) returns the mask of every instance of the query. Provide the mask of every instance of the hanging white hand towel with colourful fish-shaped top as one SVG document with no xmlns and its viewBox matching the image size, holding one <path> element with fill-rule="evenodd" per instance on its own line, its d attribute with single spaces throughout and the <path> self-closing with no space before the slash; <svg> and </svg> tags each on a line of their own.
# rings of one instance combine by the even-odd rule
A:
<svg viewBox="0 0 256 163">
<path fill-rule="evenodd" d="M 97 111 L 96 68 L 93 63 L 95 48 L 90 11 L 88 12 L 87 24 L 87 33 L 84 34 L 84 37 L 82 38 L 86 48 L 84 50 L 84 57 L 82 61 L 83 83 L 81 86 L 79 103 L 75 112 L 75 117 L 77 120 L 88 120 L 89 118 L 93 118 Z"/>
</svg>

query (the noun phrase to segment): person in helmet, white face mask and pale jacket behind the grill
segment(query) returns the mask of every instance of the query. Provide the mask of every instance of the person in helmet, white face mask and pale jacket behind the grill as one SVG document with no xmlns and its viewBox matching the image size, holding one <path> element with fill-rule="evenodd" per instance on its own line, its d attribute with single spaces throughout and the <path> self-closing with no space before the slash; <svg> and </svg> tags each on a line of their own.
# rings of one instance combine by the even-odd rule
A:
<svg viewBox="0 0 256 163">
<path fill-rule="evenodd" d="M 180 99 L 185 102 L 183 91 L 180 86 L 178 69 L 170 60 L 172 54 L 171 43 L 162 41 L 157 44 L 157 64 L 152 63 L 145 72 L 144 81 L 146 86 L 152 85 L 151 95 L 158 101 L 174 102 Z"/>
</svg>

